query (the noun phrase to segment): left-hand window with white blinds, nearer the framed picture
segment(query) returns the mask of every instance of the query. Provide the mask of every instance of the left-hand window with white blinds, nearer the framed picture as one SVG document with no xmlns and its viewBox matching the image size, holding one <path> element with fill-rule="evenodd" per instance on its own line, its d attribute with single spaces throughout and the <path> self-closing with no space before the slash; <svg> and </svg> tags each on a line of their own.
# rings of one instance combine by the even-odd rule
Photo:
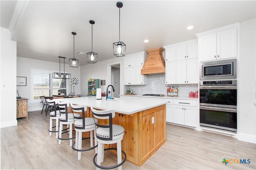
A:
<svg viewBox="0 0 256 170">
<path fill-rule="evenodd" d="M 33 99 L 50 96 L 50 73 L 33 73 Z"/>
</svg>

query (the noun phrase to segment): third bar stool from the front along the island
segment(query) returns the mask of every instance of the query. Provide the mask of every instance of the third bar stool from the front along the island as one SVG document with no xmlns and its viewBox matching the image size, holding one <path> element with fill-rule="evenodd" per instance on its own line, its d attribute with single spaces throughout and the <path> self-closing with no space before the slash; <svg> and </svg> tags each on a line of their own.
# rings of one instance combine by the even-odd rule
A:
<svg viewBox="0 0 256 170">
<path fill-rule="evenodd" d="M 60 109 L 60 132 L 59 132 L 59 145 L 61 144 L 61 140 L 70 140 L 69 145 L 70 147 L 72 146 L 72 139 L 75 137 L 72 137 L 72 124 L 74 123 L 74 116 L 80 117 L 79 113 L 68 113 L 68 107 L 69 107 L 69 102 L 58 102 L 58 106 Z M 64 109 L 64 110 L 61 110 Z M 69 131 L 62 132 L 63 125 L 67 125 Z M 63 133 L 69 132 L 69 138 L 62 138 Z"/>
</svg>

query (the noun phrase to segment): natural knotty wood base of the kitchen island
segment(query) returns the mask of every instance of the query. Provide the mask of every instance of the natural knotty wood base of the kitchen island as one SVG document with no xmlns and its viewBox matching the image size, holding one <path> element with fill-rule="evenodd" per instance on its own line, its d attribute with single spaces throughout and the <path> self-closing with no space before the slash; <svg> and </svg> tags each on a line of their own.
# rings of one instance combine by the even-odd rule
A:
<svg viewBox="0 0 256 170">
<path fill-rule="evenodd" d="M 92 117 L 90 107 L 86 116 Z M 113 124 L 124 127 L 122 150 L 126 153 L 126 159 L 142 166 L 166 142 L 166 105 L 130 115 L 116 112 Z M 83 136 L 88 137 L 88 133 L 83 133 Z M 116 144 L 104 147 L 116 148 Z"/>
</svg>

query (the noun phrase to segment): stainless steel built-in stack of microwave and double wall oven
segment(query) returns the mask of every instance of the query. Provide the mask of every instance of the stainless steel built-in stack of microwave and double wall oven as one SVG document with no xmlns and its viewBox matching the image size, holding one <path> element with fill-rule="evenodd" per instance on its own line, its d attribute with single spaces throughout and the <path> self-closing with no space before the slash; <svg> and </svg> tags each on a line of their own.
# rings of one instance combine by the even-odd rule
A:
<svg viewBox="0 0 256 170">
<path fill-rule="evenodd" d="M 200 63 L 200 127 L 236 133 L 236 59 Z"/>
</svg>

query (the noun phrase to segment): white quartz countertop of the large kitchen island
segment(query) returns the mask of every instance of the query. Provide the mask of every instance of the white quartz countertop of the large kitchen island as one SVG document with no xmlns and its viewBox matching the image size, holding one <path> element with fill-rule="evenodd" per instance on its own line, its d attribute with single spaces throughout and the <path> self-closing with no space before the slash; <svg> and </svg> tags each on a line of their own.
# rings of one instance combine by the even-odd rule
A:
<svg viewBox="0 0 256 170">
<path fill-rule="evenodd" d="M 97 100 L 96 96 L 90 96 L 81 98 L 62 98 L 60 101 L 66 101 L 78 105 L 86 104 L 87 107 L 93 107 L 96 109 L 113 109 L 115 112 L 128 115 L 167 103 L 164 101 L 132 100 L 122 98 L 114 99 L 115 101 L 109 101 L 106 100 L 106 97 L 102 97 L 102 100 Z"/>
</svg>

